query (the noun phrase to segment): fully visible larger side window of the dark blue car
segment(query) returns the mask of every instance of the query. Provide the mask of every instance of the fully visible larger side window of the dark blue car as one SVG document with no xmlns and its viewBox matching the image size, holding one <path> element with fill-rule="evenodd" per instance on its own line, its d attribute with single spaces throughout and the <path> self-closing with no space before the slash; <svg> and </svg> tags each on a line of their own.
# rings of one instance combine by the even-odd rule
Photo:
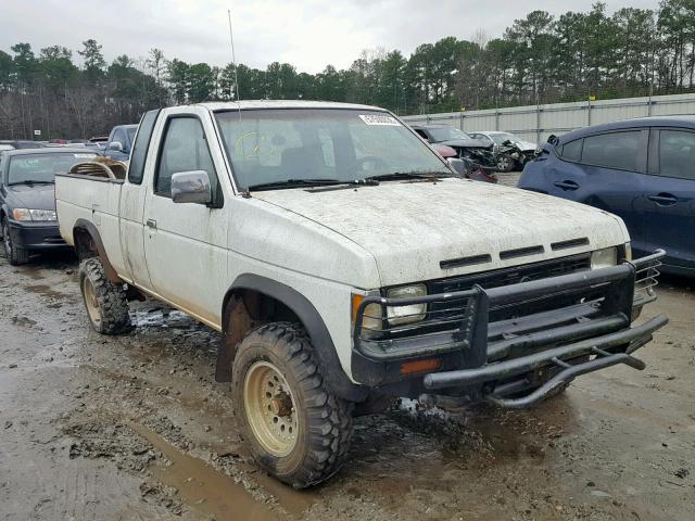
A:
<svg viewBox="0 0 695 521">
<path fill-rule="evenodd" d="M 592 166 L 639 171 L 641 144 L 640 130 L 590 136 L 584 138 L 581 162 Z"/>
</svg>

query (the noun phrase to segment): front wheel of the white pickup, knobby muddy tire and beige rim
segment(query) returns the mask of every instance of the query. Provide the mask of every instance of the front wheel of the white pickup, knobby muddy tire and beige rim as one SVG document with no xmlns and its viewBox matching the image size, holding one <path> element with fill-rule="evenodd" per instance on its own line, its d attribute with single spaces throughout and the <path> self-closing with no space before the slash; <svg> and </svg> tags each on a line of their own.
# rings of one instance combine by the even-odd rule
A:
<svg viewBox="0 0 695 521">
<path fill-rule="evenodd" d="M 245 335 L 232 366 L 235 414 L 254 459 L 270 475 L 295 488 L 315 485 L 338 472 L 353 433 L 353 404 L 326 389 L 313 351 L 308 336 L 300 327 L 269 323 Z M 280 414 L 283 417 L 280 421 L 294 425 L 294 440 L 287 445 L 273 445 L 269 443 L 274 442 L 273 437 L 263 432 L 263 422 L 268 420 L 260 417 L 273 416 L 277 409 L 274 406 L 274 411 L 266 415 L 265 403 L 261 399 L 269 399 L 269 393 L 265 393 L 267 398 L 260 399 L 250 383 L 255 381 L 255 371 L 271 370 L 269 368 L 280 377 L 276 378 L 279 384 L 274 399 L 282 393 L 283 399 L 289 396 L 291 401 L 291 414 L 288 415 L 287 407 L 286 412 Z M 276 446 L 286 447 L 286 450 L 274 449 Z"/>
</svg>

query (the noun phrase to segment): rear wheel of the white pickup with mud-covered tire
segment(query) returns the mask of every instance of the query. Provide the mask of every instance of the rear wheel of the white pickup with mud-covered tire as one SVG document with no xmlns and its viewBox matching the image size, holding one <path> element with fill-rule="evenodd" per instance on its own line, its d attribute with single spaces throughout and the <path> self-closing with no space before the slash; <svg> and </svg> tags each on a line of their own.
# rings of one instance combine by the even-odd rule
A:
<svg viewBox="0 0 695 521">
<path fill-rule="evenodd" d="M 87 317 L 101 334 L 123 334 L 132 329 L 124 284 L 114 284 L 99 258 L 86 258 L 79 264 L 79 289 Z"/>
</svg>

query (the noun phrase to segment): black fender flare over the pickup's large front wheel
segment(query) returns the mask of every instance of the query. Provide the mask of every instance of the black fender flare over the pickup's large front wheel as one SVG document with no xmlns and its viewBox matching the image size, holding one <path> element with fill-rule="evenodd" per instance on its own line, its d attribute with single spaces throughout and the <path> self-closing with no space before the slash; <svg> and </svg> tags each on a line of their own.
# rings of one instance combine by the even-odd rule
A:
<svg viewBox="0 0 695 521">
<path fill-rule="evenodd" d="M 345 374 L 328 328 L 314 305 L 293 288 L 253 274 L 242 274 L 237 277 L 225 294 L 222 309 L 223 340 L 217 352 L 215 371 L 215 379 L 218 382 L 229 382 L 231 380 L 231 364 L 236 355 L 235 347 L 225 342 L 229 328 L 227 305 L 236 294 L 244 290 L 251 290 L 275 298 L 299 317 L 314 345 L 314 353 L 324 377 L 324 383 L 331 393 L 352 402 L 362 402 L 367 397 L 369 390 L 364 385 L 353 383 Z"/>
</svg>

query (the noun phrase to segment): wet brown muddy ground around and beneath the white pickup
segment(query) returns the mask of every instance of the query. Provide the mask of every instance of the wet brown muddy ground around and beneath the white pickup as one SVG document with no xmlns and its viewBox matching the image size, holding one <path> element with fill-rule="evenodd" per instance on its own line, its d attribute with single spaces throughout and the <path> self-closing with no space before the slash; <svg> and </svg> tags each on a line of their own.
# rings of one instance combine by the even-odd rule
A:
<svg viewBox="0 0 695 521">
<path fill-rule="evenodd" d="M 250 461 L 217 333 L 155 302 L 92 332 L 67 257 L 0 258 L 0 519 L 695 519 L 695 281 L 639 372 L 580 378 L 531 411 L 362 418 L 349 463 L 294 492 Z"/>
</svg>

